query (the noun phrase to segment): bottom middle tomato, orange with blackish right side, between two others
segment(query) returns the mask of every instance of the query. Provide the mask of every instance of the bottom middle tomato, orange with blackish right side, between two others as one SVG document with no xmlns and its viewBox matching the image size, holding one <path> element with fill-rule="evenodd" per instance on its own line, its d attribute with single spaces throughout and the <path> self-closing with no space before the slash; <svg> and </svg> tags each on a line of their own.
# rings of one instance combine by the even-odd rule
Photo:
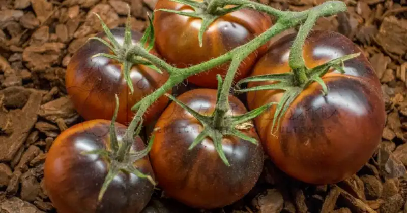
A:
<svg viewBox="0 0 407 213">
<path fill-rule="evenodd" d="M 190 90 L 178 99 L 202 115 L 211 115 L 216 90 Z M 246 112 L 236 97 L 230 95 L 229 102 L 229 115 Z M 165 109 L 155 127 L 160 129 L 156 130 L 150 159 L 158 185 L 166 195 L 191 207 L 209 209 L 241 199 L 255 185 L 263 167 L 261 146 L 224 136 L 222 147 L 230 167 L 223 163 L 209 137 L 188 151 L 203 127 L 175 102 Z M 253 127 L 241 131 L 258 139 Z"/>
</svg>

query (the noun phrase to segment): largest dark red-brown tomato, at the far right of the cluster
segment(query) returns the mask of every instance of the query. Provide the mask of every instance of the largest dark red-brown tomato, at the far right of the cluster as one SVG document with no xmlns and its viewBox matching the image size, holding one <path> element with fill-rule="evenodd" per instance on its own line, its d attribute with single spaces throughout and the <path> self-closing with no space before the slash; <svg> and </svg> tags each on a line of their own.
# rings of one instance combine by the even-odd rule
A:
<svg viewBox="0 0 407 213">
<path fill-rule="evenodd" d="M 273 43 L 255 65 L 252 76 L 289 72 L 288 55 L 296 33 Z M 336 32 L 312 31 L 303 57 L 308 68 L 361 52 L 351 40 Z M 339 182 L 356 173 L 381 141 L 385 108 L 381 84 L 361 53 L 344 62 L 344 74 L 331 69 L 322 77 L 327 96 L 314 82 L 290 105 L 278 129 L 272 126 L 275 105 L 255 119 L 266 152 L 284 172 L 311 184 Z M 248 87 L 272 82 L 249 83 Z M 279 101 L 281 90 L 247 93 L 249 109 Z M 276 132 L 275 137 L 271 131 Z"/>
</svg>

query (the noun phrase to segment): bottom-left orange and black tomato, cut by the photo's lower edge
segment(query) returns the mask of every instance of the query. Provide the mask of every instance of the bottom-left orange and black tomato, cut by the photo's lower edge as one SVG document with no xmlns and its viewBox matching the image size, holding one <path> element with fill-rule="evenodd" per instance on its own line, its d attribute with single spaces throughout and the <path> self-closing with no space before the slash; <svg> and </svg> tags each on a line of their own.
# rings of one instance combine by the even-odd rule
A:
<svg viewBox="0 0 407 213">
<path fill-rule="evenodd" d="M 98 195 L 108 171 L 108 162 L 99 155 L 85 151 L 109 148 L 108 120 L 91 120 L 76 124 L 62 132 L 54 141 L 44 165 L 47 195 L 59 213 L 140 212 L 150 201 L 154 186 L 132 173 L 120 172 L 108 186 L 101 203 Z M 117 123 L 117 137 L 123 138 L 126 126 Z M 136 137 L 132 149 L 144 149 Z M 133 165 L 154 177 L 148 156 Z"/>
</svg>

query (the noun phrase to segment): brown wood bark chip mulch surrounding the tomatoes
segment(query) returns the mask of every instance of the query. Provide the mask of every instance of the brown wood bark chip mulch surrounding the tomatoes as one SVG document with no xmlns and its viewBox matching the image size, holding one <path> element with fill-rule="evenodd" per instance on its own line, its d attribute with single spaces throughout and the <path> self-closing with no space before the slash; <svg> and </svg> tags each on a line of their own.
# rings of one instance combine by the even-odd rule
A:
<svg viewBox="0 0 407 213">
<path fill-rule="evenodd" d="M 300 11 L 324 0 L 260 0 Z M 144 30 L 156 0 L 0 0 L 0 212 L 56 212 L 43 190 L 43 163 L 61 131 L 83 121 L 66 95 L 72 54 L 101 31 Z M 157 190 L 153 212 L 407 212 L 407 1 L 349 0 L 348 12 L 318 20 L 369 57 L 382 82 L 387 110 L 380 148 L 357 174 L 336 185 L 312 186 L 286 177 L 270 161 L 257 186 L 223 209 L 192 210 Z M 271 172 L 273 171 L 273 172 Z M 271 173 L 274 173 L 271 175 Z"/>
</svg>

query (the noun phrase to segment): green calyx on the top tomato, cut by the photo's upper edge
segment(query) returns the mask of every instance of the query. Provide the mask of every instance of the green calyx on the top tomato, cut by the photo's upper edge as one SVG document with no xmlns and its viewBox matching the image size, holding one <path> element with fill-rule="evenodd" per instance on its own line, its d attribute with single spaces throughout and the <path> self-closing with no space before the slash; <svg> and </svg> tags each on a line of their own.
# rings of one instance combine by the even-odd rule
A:
<svg viewBox="0 0 407 213">
<path fill-rule="evenodd" d="M 170 0 L 170 1 L 188 5 L 194 11 L 184 12 L 169 9 L 158 9 L 156 11 L 176 13 L 178 15 L 201 19 L 202 23 L 198 33 L 199 47 L 202 47 L 203 45 L 203 34 L 216 19 L 228 13 L 238 11 L 242 8 L 255 9 L 255 7 L 252 4 L 243 4 L 231 8 L 224 8 L 226 6 L 226 4 L 224 4 L 224 1 L 203 1 L 203 2 L 196 2 L 193 0 Z"/>
</svg>

